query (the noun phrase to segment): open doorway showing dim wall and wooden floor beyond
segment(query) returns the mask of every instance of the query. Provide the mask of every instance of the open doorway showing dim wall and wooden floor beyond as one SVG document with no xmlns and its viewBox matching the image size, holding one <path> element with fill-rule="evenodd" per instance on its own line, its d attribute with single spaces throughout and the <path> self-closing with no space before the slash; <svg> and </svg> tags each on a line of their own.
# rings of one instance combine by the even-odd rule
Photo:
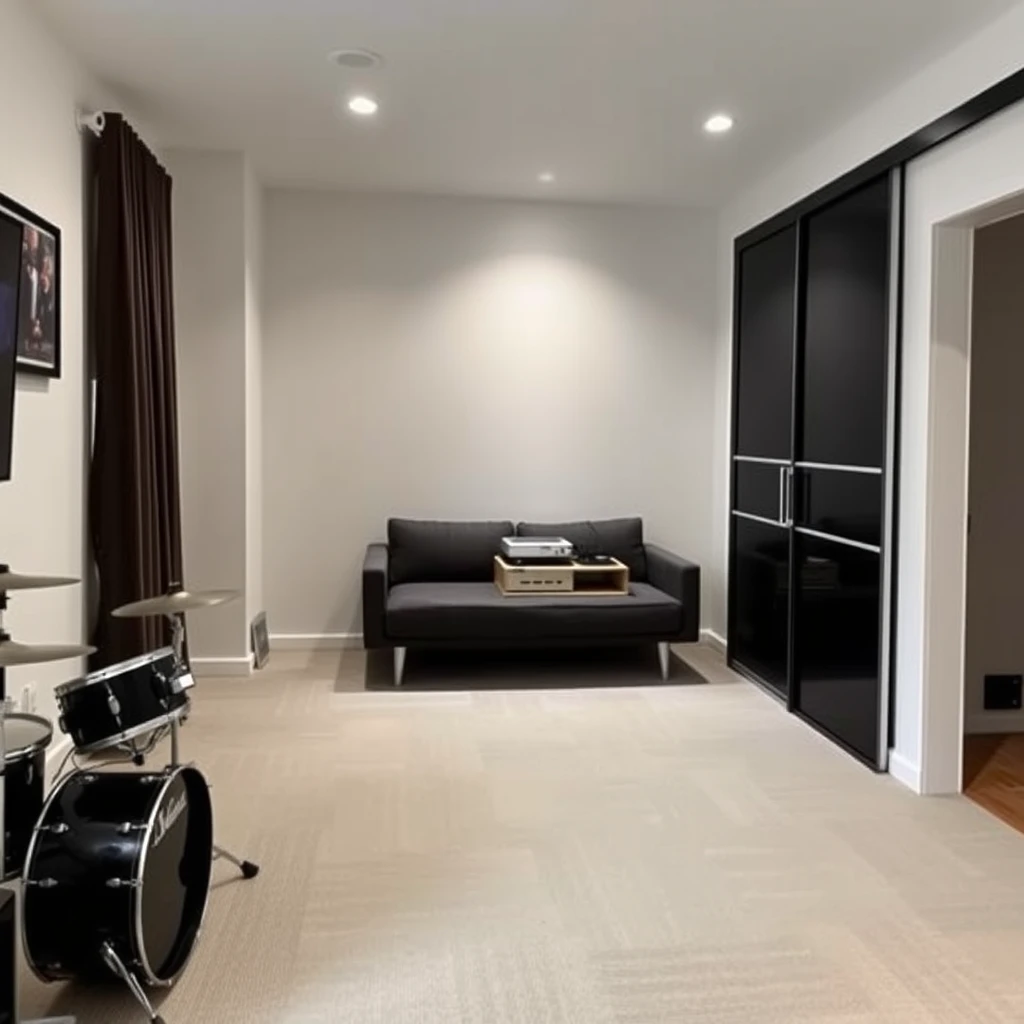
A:
<svg viewBox="0 0 1024 1024">
<path fill-rule="evenodd" d="M 1024 215 L 974 232 L 964 792 L 1024 831 Z"/>
</svg>

